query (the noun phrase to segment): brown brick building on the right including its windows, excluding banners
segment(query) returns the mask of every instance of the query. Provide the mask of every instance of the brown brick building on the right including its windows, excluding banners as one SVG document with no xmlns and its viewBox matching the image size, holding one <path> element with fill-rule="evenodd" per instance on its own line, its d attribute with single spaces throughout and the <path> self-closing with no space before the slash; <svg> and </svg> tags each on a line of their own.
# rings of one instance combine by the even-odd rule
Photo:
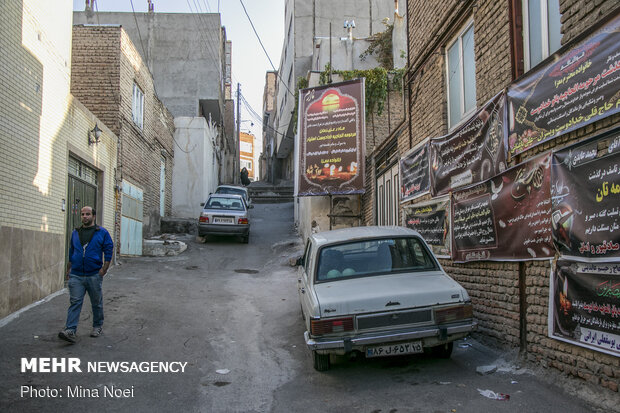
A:
<svg viewBox="0 0 620 413">
<path fill-rule="evenodd" d="M 515 82 L 523 76 L 535 70 L 544 71 L 558 61 L 558 55 L 570 54 L 579 41 L 617 16 L 620 5 L 618 1 L 541 3 L 407 2 L 409 61 L 405 84 L 409 116 L 406 130 L 398 138 L 395 156 L 402 157 L 429 137 L 442 137 L 457 130 L 494 96 L 506 89 L 516 90 Z M 555 57 L 554 52 L 558 52 Z M 575 55 L 580 56 L 576 52 Z M 507 119 L 514 123 L 510 110 L 513 109 L 508 109 Z M 614 133 L 619 125 L 618 114 L 603 116 L 508 156 L 505 167 L 520 165 L 595 135 Z M 430 199 L 427 194 L 401 204 L 401 215 L 403 208 Z M 614 240 L 619 241 L 617 235 Z M 618 391 L 617 355 L 550 336 L 551 261 L 441 261 L 444 269 L 470 293 L 483 337 L 518 348 L 528 360 L 543 367 L 606 391 Z"/>
</svg>

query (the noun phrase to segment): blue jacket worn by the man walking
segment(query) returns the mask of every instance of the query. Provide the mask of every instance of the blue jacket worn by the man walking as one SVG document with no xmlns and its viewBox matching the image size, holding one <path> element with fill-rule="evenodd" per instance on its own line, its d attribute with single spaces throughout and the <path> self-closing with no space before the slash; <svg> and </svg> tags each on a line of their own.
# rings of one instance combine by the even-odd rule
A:
<svg viewBox="0 0 620 413">
<path fill-rule="evenodd" d="M 112 251 L 114 243 L 110 233 L 100 226 L 96 226 L 93 238 L 86 249 L 82 248 L 80 235 L 77 229 L 71 234 L 71 246 L 69 247 L 69 259 L 71 260 L 71 274 L 75 275 L 94 275 L 99 273 L 103 266 L 101 255 L 105 261 L 112 261 Z"/>
</svg>

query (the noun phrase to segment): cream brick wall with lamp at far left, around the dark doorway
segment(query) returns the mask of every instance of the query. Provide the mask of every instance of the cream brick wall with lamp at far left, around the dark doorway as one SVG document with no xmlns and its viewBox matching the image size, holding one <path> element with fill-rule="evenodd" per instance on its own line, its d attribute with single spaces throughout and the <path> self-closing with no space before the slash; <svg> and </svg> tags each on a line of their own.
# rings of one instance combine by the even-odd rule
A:
<svg viewBox="0 0 620 413">
<path fill-rule="evenodd" d="M 98 170 L 98 223 L 114 229 L 117 138 L 69 93 L 71 8 L 0 3 L 0 317 L 64 285 L 69 155 Z"/>
</svg>

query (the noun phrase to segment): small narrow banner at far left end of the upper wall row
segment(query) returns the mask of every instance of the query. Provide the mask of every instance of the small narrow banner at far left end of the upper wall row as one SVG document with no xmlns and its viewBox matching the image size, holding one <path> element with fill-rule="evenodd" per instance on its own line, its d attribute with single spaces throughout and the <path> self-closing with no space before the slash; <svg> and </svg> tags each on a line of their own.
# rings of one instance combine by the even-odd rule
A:
<svg viewBox="0 0 620 413">
<path fill-rule="evenodd" d="M 400 202 L 406 202 L 428 192 L 428 142 L 413 148 L 400 158 Z"/>
</svg>

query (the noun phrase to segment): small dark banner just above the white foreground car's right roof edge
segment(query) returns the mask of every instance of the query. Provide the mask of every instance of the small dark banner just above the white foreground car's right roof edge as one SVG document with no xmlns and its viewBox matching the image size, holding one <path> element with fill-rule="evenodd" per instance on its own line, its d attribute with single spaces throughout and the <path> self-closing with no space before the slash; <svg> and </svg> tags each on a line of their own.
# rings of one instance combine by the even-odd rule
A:
<svg viewBox="0 0 620 413">
<path fill-rule="evenodd" d="M 405 226 L 414 229 L 441 258 L 450 257 L 450 198 L 410 205 L 404 208 Z"/>
</svg>

